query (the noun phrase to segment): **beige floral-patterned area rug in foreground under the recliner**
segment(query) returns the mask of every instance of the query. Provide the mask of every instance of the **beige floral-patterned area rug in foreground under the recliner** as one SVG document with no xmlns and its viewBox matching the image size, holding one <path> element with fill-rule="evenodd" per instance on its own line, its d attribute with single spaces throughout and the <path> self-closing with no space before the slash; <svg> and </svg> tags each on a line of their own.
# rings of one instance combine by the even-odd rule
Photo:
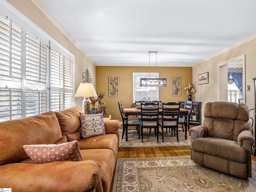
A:
<svg viewBox="0 0 256 192">
<path fill-rule="evenodd" d="M 252 178 L 241 179 L 195 164 L 186 157 L 118 158 L 113 192 L 255 192 Z"/>
</svg>

